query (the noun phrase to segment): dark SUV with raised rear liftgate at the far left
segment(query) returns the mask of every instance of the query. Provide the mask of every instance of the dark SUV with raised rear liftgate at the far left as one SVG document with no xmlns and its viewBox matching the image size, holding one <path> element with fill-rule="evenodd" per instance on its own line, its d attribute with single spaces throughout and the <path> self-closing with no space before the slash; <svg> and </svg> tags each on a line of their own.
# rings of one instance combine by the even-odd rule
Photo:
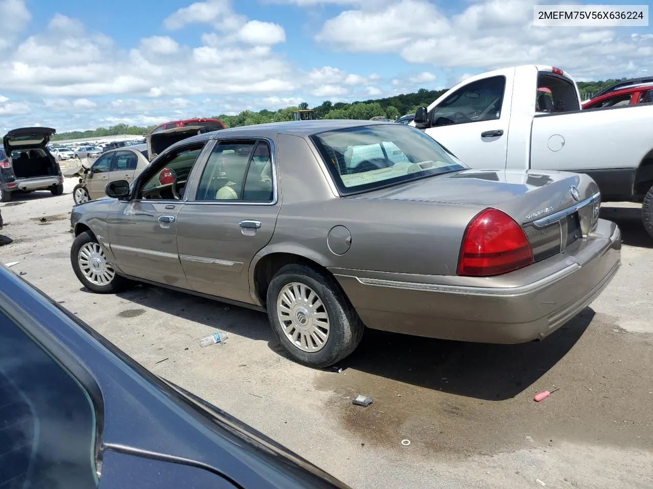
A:
<svg viewBox="0 0 653 489">
<path fill-rule="evenodd" d="M 0 201 L 10 201 L 16 192 L 63 194 L 61 168 L 47 149 L 55 132 L 48 127 L 25 127 L 5 134 L 0 150 Z"/>
</svg>

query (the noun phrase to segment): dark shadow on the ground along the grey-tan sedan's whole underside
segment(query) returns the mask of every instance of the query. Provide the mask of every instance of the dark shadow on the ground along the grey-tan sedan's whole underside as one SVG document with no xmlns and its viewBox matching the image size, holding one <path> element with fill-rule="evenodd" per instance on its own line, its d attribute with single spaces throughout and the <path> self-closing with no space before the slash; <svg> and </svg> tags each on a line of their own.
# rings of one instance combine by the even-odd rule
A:
<svg viewBox="0 0 653 489">
<path fill-rule="evenodd" d="M 91 293 L 86 288 L 81 291 Z M 253 340 L 268 342 L 290 358 L 265 313 L 149 284 L 117 294 L 133 304 Z M 124 316 L 129 317 L 130 310 Z M 479 398 L 513 398 L 543 376 L 573 348 L 594 318 L 585 308 L 558 331 L 538 341 L 492 345 L 421 338 L 367 329 L 358 348 L 336 366 L 438 391 Z"/>
</svg>

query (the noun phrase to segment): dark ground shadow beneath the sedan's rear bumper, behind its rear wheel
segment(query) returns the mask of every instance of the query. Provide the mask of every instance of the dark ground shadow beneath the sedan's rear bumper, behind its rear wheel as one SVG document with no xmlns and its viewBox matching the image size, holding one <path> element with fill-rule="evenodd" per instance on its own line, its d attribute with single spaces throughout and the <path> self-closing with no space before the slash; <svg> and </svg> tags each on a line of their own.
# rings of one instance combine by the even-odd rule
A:
<svg viewBox="0 0 653 489">
<path fill-rule="evenodd" d="M 541 341 L 493 345 L 420 338 L 368 329 L 338 366 L 483 400 L 517 396 L 562 359 L 594 318 L 585 308 Z"/>
</svg>

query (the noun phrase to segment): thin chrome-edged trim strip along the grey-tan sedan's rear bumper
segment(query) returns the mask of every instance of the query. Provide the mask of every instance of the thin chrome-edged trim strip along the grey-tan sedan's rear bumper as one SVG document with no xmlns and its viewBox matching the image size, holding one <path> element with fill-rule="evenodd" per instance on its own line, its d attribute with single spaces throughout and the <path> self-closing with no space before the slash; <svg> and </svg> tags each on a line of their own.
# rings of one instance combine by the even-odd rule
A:
<svg viewBox="0 0 653 489">
<path fill-rule="evenodd" d="M 421 284 L 417 282 L 399 282 L 397 280 L 382 280 L 380 278 L 360 278 L 354 276 L 358 282 L 363 285 L 377 286 L 377 287 L 391 287 L 396 289 L 418 290 L 426 292 L 446 292 L 460 295 L 517 295 L 522 293 L 533 292 L 537 289 L 544 288 L 550 284 L 564 278 L 565 276 L 579 270 L 581 265 L 573 263 L 564 269 L 557 271 L 540 280 L 518 287 L 467 287 L 467 286 L 451 286 L 441 284 Z M 349 276 L 349 275 L 336 275 L 336 276 Z"/>
</svg>

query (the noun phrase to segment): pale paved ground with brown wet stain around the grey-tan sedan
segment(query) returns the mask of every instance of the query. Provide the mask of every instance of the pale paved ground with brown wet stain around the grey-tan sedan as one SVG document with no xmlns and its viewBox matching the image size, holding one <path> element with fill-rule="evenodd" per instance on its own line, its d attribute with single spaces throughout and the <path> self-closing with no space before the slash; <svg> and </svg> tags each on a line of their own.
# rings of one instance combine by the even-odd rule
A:
<svg viewBox="0 0 653 489">
<path fill-rule="evenodd" d="M 624 233 L 622 268 L 543 342 L 368 331 L 337 374 L 289 361 L 258 312 L 149 286 L 86 291 L 69 261 L 72 186 L 0 207 L 1 261 L 20 261 L 14 271 L 156 374 L 354 488 L 653 486 L 653 239 L 637 207 L 604 206 Z M 200 348 L 214 329 L 229 335 L 225 344 Z M 374 404 L 352 406 L 359 393 Z"/>
</svg>

